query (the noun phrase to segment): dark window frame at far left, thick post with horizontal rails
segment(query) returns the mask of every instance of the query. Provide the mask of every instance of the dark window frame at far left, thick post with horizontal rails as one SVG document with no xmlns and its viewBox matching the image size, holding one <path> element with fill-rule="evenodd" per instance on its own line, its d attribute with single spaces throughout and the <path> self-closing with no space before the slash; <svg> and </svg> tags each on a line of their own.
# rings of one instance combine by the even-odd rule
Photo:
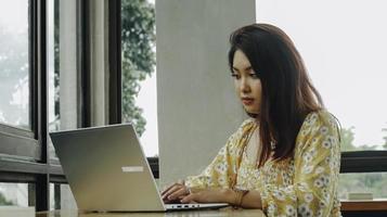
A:
<svg viewBox="0 0 387 217">
<path fill-rule="evenodd" d="M 60 169 L 51 167 L 47 161 L 47 2 L 46 0 L 29 0 L 28 3 L 31 131 L 1 125 L 1 132 L 10 133 L 10 139 L 2 144 L 1 153 L 4 153 L 3 148 L 9 148 L 10 151 L 5 154 L 10 156 L 0 159 L 0 181 L 27 182 L 28 189 L 34 187 L 34 200 L 33 195 L 29 195 L 28 205 L 36 206 L 37 210 L 47 210 L 50 171 L 60 173 Z M 25 150 L 17 151 L 21 148 Z"/>
</svg>

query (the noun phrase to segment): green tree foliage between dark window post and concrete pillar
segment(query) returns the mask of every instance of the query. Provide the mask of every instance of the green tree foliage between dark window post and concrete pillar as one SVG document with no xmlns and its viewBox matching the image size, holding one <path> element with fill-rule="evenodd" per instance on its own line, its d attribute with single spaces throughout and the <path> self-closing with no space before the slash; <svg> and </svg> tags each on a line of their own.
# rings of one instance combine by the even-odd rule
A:
<svg viewBox="0 0 387 217">
<path fill-rule="evenodd" d="M 140 81 L 155 65 L 155 9 L 145 0 L 121 1 L 122 122 L 134 125 L 141 136 L 146 120 L 136 105 Z"/>
</svg>

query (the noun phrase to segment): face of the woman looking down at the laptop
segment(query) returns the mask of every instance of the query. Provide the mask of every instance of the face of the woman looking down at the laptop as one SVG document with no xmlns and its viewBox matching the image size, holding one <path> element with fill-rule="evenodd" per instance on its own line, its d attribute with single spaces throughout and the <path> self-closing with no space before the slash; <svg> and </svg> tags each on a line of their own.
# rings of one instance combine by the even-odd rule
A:
<svg viewBox="0 0 387 217">
<path fill-rule="evenodd" d="M 259 114 L 262 87 L 246 55 L 236 50 L 234 53 L 232 76 L 236 94 L 247 113 Z"/>
</svg>

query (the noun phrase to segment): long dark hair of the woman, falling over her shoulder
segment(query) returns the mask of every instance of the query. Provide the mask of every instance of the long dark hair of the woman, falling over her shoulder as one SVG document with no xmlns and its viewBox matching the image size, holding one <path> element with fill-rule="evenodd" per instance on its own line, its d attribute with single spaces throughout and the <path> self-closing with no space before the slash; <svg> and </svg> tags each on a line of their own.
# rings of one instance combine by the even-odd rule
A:
<svg viewBox="0 0 387 217">
<path fill-rule="evenodd" d="M 283 30 L 269 24 L 236 29 L 230 36 L 230 69 L 235 51 L 241 50 L 262 86 L 261 107 L 257 115 L 262 145 L 258 167 L 270 157 L 281 161 L 293 156 L 305 117 L 324 106 L 300 54 Z"/>
</svg>

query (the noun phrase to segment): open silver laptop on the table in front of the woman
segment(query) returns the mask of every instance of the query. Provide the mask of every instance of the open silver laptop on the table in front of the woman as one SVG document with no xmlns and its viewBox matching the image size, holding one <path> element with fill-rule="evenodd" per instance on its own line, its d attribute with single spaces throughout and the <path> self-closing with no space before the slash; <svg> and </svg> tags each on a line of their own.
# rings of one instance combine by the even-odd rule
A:
<svg viewBox="0 0 387 217">
<path fill-rule="evenodd" d="M 228 204 L 164 204 L 130 124 L 51 132 L 78 208 L 166 212 Z"/>
</svg>

